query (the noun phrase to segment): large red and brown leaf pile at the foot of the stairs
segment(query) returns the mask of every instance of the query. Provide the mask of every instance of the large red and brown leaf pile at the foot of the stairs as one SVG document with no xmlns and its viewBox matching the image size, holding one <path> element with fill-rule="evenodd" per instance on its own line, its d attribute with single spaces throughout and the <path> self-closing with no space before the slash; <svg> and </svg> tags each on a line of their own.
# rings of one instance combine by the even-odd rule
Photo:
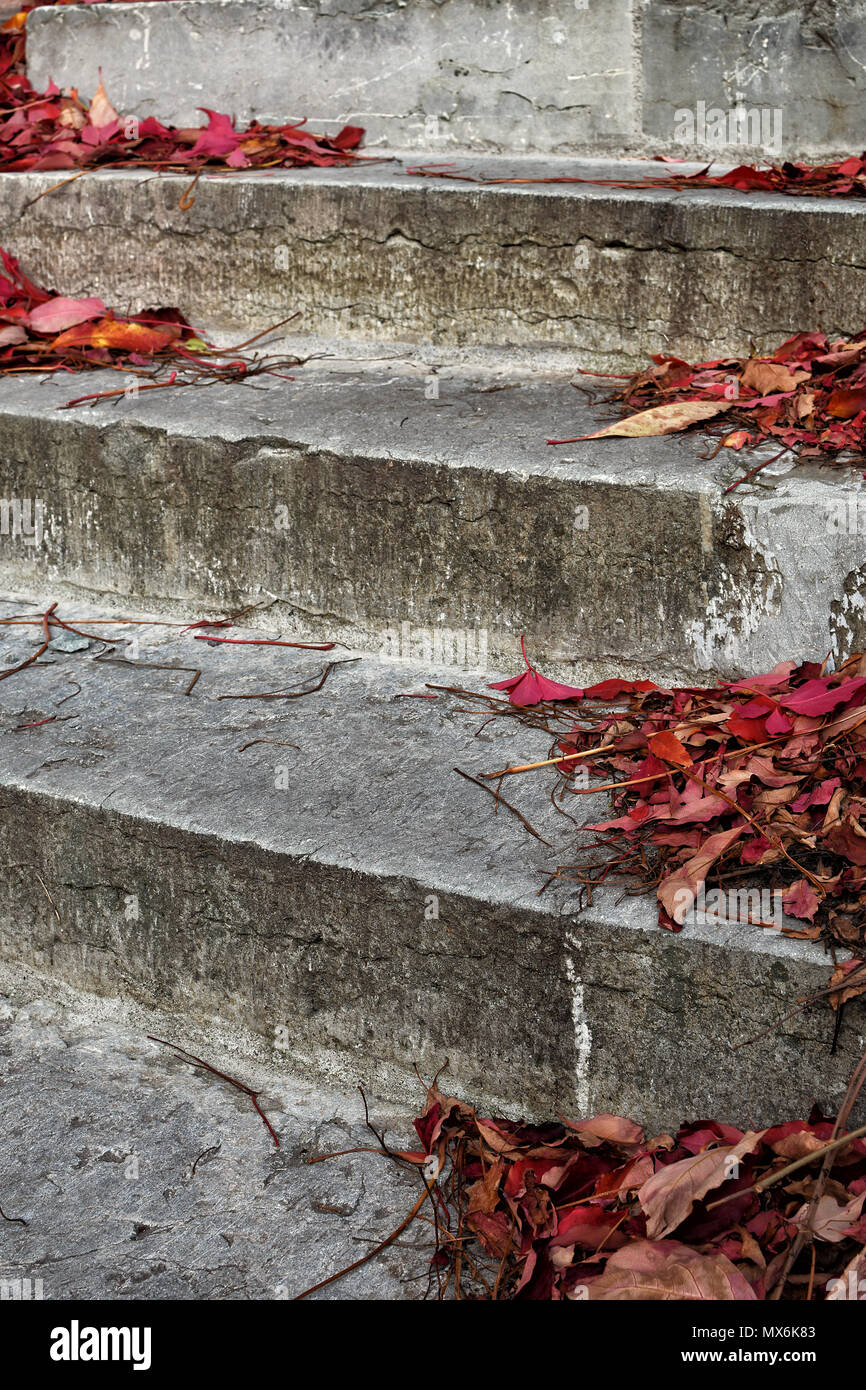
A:
<svg viewBox="0 0 866 1390">
<path fill-rule="evenodd" d="M 815 1109 L 760 1131 L 716 1120 L 646 1138 L 616 1115 L 482 1119 L 434 1086 L 416 1120 L 441 1297 L 856 1298 L 866 1287 L 866 1126 Z M 853 1137 L 859 1136 L 859 1137 Z"/>
</svg>

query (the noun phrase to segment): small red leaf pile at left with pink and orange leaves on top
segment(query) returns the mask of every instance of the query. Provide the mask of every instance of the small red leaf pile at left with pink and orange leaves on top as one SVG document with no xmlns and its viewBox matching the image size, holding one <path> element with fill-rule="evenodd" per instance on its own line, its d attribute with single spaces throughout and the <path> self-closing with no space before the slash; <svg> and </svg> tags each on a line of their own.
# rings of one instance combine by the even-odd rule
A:
<svg viewBox="0 0 866 1390">
<path fill-rule="evenodd" d="M 67 299 L 35 285 L 3 247 L 0 263 L 0 375 L 93 367 L 125 374 L 122 386 L 79 396 L 68 406 L 165 386 L 245 381 L 263 373 L 284 375 L 285 368 L 297 364 L 297 357 L 247 353 L 249 345 L 264 334 L 236 348 L 215 350 L 178 309 L 118 317 L 101 299 Z M 167 367 L 171 367 L 168 375 L 157 381 Z"/>
</svg>

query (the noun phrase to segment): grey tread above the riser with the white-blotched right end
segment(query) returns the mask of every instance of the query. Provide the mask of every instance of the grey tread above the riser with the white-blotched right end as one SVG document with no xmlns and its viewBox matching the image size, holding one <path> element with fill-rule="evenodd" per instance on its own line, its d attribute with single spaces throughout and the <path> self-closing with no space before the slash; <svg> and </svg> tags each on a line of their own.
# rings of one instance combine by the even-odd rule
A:
<svg viewBox="0 0 866 1390">
<path fill-rule="evenodd" d="M 284 349 L 303 353 L 303 343 L 288 341 L 272 350 Z M 384 356 L 393 361 L 382 361 Z M 575 353 L 574 366 L 578 361 Z M 393 459 L 662 491 L 719 491 L 745 471 L 730 450 L 713 460 L 703 457 L 706 438 L 694 434 L 548 445 L 549 438 L 591 434 L 620 418 L 617 406 L 605 400 L 606 388 L 616 382 L 603 378 L 582 378 L 582 391 L 570 375 L 525 375 L 502 363 L 474 371 L 455 368 L 435 349 L 425 356 L 416 349 L 410 356 L 395 353 L 392 343 L 374 350 L 367 364 L 313 361 L 292 371 L 291 382 L 260 377 L 250 386 L 142 392 L 136 399 L 95 402 L 68 411 L 58 407 L 90 392 L 115 389 L 117 378 L 104 371 L 47 379 L 7 377 L 0 378 L 0 420 L 68 421 L 99 432 L 143 425 L 178 438 L 297 445 L 346 460 Z M 425 398 L 432 375 L 439 381 L 438 399 Z M 767 445 L 749 466 L 777 452 Z M 816 489 L 817 496 L 858 491 L 858 473 L 803 460 L 795 471 L 778 471 L 774 486 L 785 503 L 802 496 L 813 505 Z M 741 495 L 767 498 L 765 488 L 749 485 Z"/>
</svg>

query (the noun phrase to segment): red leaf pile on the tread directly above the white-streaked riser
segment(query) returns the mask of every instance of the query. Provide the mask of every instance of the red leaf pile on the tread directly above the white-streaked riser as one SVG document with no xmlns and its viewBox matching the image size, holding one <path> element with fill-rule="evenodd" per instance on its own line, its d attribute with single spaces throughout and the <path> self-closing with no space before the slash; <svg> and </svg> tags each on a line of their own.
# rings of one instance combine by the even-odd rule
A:
<svg viewBox="0 0 866 1390">
<path fill-rule="evenodd" d="M 510 712 L 530 727 L 541 716 L 556 742 L 549 762 L 488 780 L 500 787 L 553 767 L 560 806 L 612 795 L 614 816 L 587 827 L 592 849 L 557 877 L 589 895 L 610 874 L 634 876 L 644 891 L 655 887 L 659 922 L 673 930 L 699 899 L 706 917 L 721 919 L 731 891 L 765 885 L 803 926 L 760 916 L 758 926 L 866 954 L 865 653 L 835 671 L 788 660 L 763 676 L 671 689 L 623 680 L 578 689 L 548 681 L 527 660 L 525 671 L 492 688 L 509 692 Z M 838 967 L 840 981 L 863 980 L 834 1004 L 866 990 L 856 966 Z"/>
</svg>

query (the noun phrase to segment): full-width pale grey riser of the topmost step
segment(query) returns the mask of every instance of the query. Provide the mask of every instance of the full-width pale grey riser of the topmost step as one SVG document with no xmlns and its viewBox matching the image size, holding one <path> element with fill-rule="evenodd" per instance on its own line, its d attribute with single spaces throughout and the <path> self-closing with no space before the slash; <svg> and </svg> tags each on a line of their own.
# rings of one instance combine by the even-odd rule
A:
<svg viewBox="0 0 866 1390">
<path fill-rule="evenodd" d="M 862 147 L 858 6 L 172 0 L 28 17 L 36 86 L 197 124 L 352 121 L 439 150 L 815 157 Z M 721 117 L 721 121 L 719 120 Z"/>
</svg>

